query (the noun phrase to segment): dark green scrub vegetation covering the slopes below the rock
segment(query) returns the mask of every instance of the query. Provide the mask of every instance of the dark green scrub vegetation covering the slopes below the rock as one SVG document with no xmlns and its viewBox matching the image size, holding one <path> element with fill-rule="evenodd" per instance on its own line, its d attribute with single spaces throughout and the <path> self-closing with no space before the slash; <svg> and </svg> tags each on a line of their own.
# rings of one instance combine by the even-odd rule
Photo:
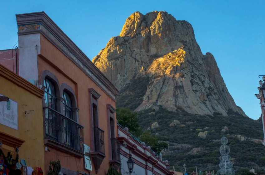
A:
<svg viewBox="0 0 265 175">
<path fill-rule="evenodd" d="M 137 108 L 142 103 L 142 94 L 146 92 L 146 82 L 148 81 L 143 78 L 136 78 L 127 85 L 124 88 L 126 90 L 122 90 L 117 97 L 117 107 L 131 110 Z M 181 109 L 168 111 L 161 106 L 158 107 L 158 111 L 149 108 L 138 112 L 138 123 L 142 131 L 151 128 L 154 122 L 159 124 L 158 128 L 150 131 L 169 143 L 169 150 L 163 152 L 162 158 L 168 160 L 176 170 L 180 171 L 184 163 L 190 171 L 195 170 L 195 167 L 203 171 L 219 170 L 220 138 L 223 135 L 228 138 L 229 155 L 238 173 L 241 173 L 242 168 L 265 168 L 265 147 L 261 143 L 263 139 L 261 119 L 253 120 L 232 110 L 229 110 L 228 116 L 219 113 L 214 113 L 213 116 L 201 116 Z M 180 123 L 170 127 L 174 120 Z M 224 127 L 227 127 L 228 131 L 222 132 Z M 200 132 L 205 131 L 207 131 L 206 138 L 198 137 Z"/>
</svg>

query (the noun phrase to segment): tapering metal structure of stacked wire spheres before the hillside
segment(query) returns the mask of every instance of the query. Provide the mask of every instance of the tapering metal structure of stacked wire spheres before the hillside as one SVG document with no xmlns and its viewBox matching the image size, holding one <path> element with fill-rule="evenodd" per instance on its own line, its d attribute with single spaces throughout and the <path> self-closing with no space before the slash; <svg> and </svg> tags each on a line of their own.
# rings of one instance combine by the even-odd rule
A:
<svg viewBox="0 0 265 175">
<path fill-rule="evenodd" d="M 219 167 L 221 168 L 216 172 L 216 175 L 234 175 L 235 170 L 233 168 L 233 163 L 230 162 L 231 157 L 228 155 L 230 153 L 230 148 L 228 145 L 228 139 L 226 137 L 221 138 L 222 146 L 220 147 L 220 163 Z"/>
</svg>

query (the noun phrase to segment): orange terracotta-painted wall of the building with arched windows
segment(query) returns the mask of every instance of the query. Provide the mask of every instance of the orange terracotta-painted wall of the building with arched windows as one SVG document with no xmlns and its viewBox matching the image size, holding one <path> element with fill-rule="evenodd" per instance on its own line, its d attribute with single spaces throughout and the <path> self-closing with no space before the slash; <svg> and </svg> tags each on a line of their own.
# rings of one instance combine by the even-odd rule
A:
<svg viewBox="0 0 265 175">
<path fill-rule="evenodd" d="M 98 101 L 99 107 L 99 127 L 104 130 L 105 139 L 105 155 L 103 163 L 100 166 L 98 174 L 107 174 L 109 168 L 108 157 L 108 128 L 107 128 L 107 104 L 111 104 L 115 108 L 115 102 L 98 86 L 96 85 L 75 63 L 70 61 L 63 53 L 61 53 L 51 42 L 43 35 L 40 36 L 41 55 L 39 55 L 39 76 L 43 70 L 49 70 L 59 80 L 60 85 L 67 83 L 74 89 L 79 108 L 79 124 L 84 126 L 84 143 L 90 144 L 90 116 L 89 116 L 89 88 L 94 88 L 101 96 Z M 116 128 L 117 134 L 117 128 Z M 60 159 L 61 166 L 73 171 L 88 172 L 84 169 L 83 158 L 75 158 L 58 150 L 45 153 L 45 168 L 48 169 L 49 161 Z M 95 168 L 92 162 L 93 171 L 90 174 L 95 174 Z"/>
</svg>

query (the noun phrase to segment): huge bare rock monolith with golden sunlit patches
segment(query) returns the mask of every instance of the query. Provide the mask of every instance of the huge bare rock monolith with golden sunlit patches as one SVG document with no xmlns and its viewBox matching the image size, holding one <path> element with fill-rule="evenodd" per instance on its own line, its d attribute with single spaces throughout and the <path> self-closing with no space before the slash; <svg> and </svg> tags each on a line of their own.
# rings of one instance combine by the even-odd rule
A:
<svg viewBox="0 0 265 175">
<path fill-rule="evenodd" d="M 202 54 L 190 23 L 167 12 L 133 13 L 92 62 L 119 90 L 134 78 L 149 77 L 135 111 L 161 105 L 200 115 L 227 115 L 228 109 L 245 115 L 229 94 L 214 56 Z"/>
</svg>

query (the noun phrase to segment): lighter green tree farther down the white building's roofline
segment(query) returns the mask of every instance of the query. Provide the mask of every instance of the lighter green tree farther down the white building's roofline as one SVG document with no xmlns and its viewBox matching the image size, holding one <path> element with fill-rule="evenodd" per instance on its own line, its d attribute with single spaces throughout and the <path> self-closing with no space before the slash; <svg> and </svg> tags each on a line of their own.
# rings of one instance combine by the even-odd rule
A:
<svg viewBox="0 0 265 175">
<path fill-rule="evenodd" d="M 160 137 L 152 135 L 150 130 L 144 131 L 140 136 L 140 139 L 142 142 L 145 142 L 146 145 L 150 146 L 157 154 L 160 154 L 161 151 L 168 149 L 168 144 L 161 141 Z"/>
</svg>

